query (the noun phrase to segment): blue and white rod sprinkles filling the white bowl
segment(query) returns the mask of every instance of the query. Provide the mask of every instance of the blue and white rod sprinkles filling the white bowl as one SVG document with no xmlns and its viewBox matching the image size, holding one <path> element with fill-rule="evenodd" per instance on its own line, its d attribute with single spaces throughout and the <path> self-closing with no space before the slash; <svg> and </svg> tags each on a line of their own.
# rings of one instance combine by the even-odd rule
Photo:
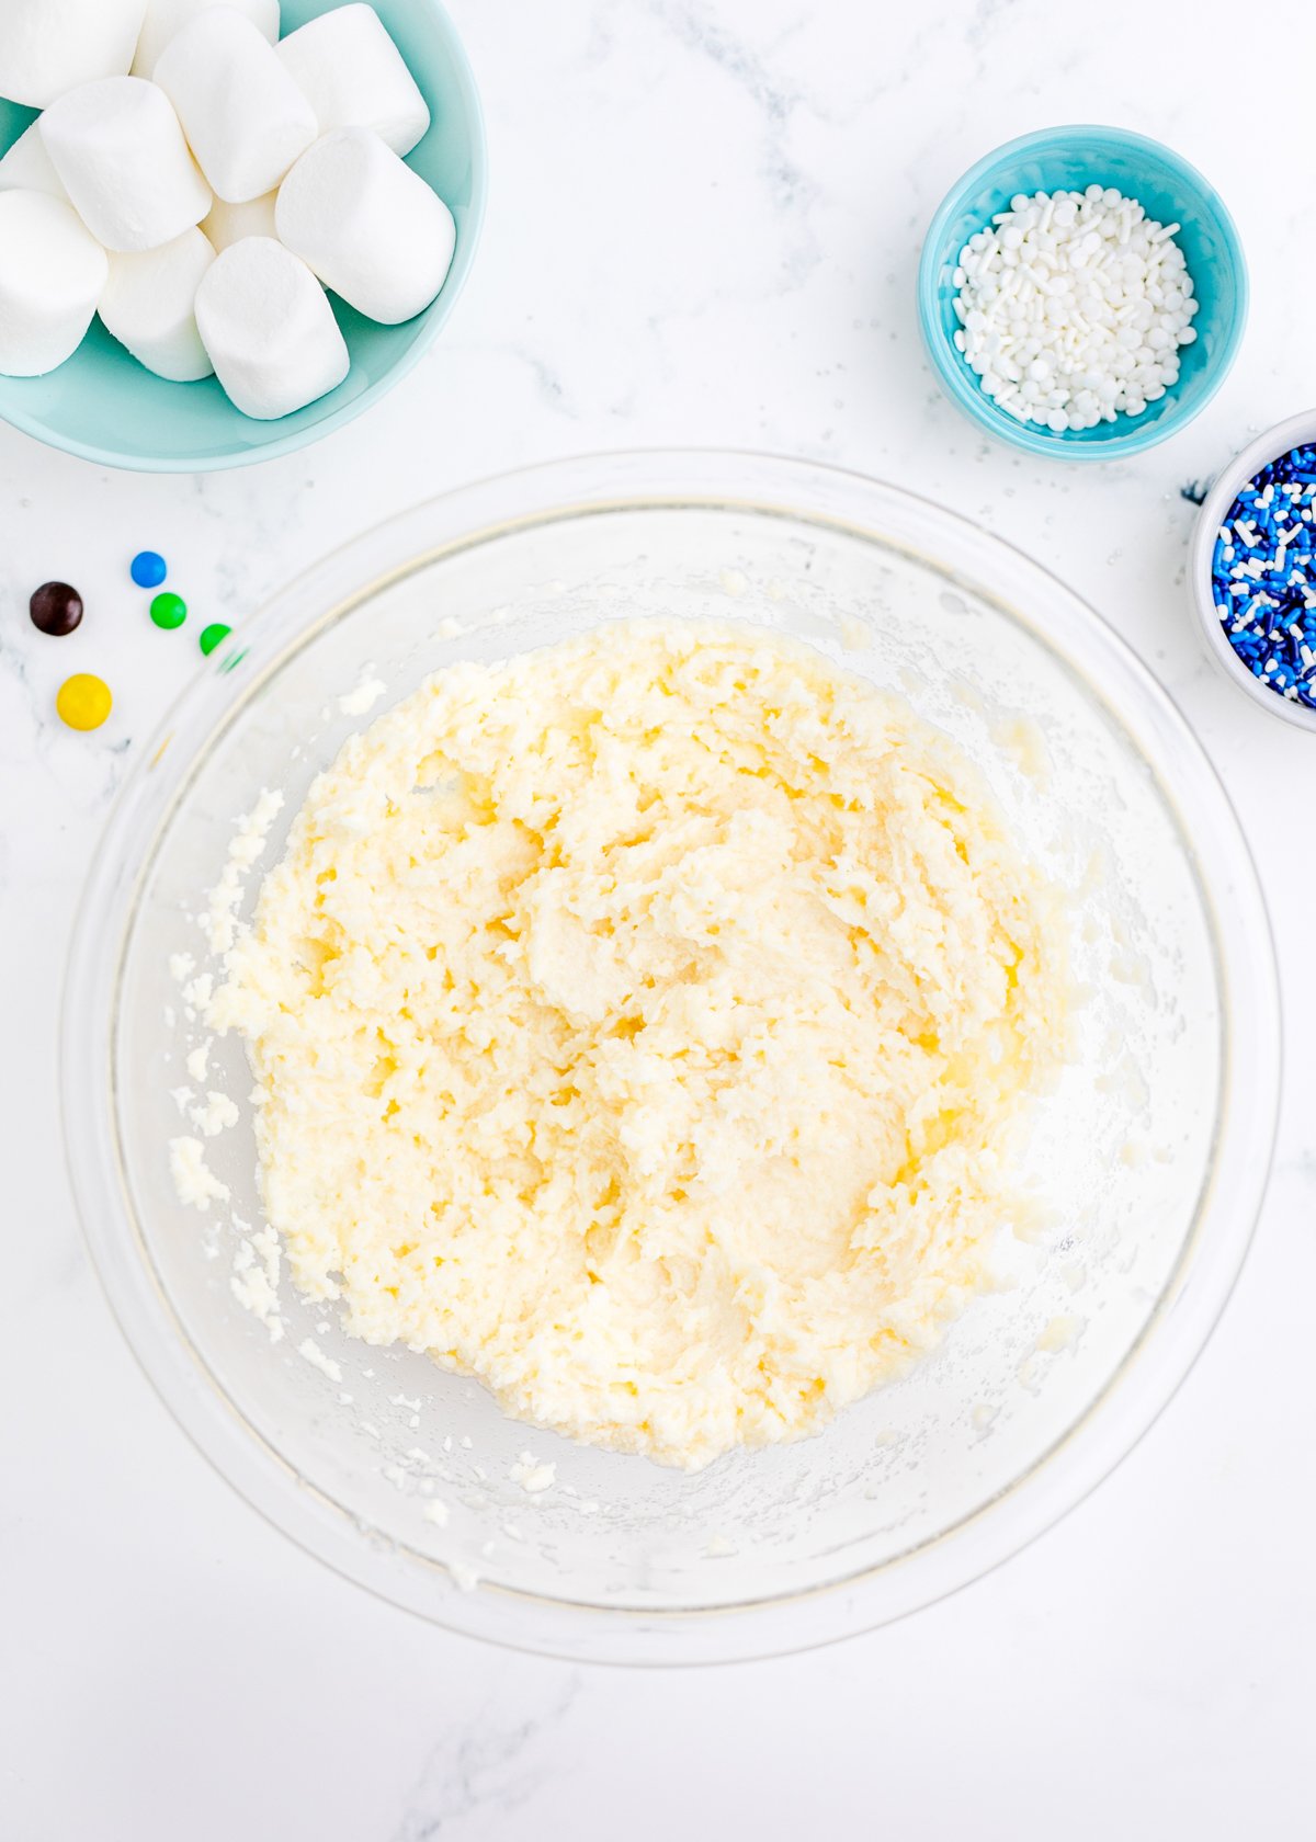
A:
<svg viewBox="0 0 1316 1842">
<path fill-rule="evenodd" d="M 1211 586 L 1253 678 L 1316 709 L 1316 444 L 1290 448 L 1239 492 L 1216 532 Z"/>
</svg>

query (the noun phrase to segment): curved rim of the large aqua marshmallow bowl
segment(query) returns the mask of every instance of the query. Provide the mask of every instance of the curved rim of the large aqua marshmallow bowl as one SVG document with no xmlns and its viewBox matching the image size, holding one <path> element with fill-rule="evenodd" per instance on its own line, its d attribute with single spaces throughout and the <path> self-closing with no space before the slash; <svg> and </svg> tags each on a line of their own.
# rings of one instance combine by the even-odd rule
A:
<svg viewBox="0 0 1316 1842">
<path fill-rule="evenodd" d="M 271 440 L 260 442 L 258 446 L 247 448 L 240 453 L 227 449 L 217 453 L 197 451 L 186 459 L 175 455 L 127 455 L 118 448 L 101 448 L 96 442 L 83 442 L 74 435 L 65 435 L 59 429 L 52 429 L 50 424 L 42 422 L 39 416 L 33 416 L 24 409 L 9 409 L 2 402 L 0 422 L 7 422 L 9 427 L 18 429 L 20 435 L 28 435 L 31 440 L 41 442 L 42 448 L 53 448 L 59 453 L 74 455 L 77 460 L 90 460 L 94 466 L 109 466 L 122 473 L 225 473 L 232 468 L 260 466 L 262 460 L 278 460 L 280 457 L 297 453 L 302 448 L 311 448 L 315 442 L 334 435 L 337 429 L 347 427 L 348 422 L 365 414 L 365 411 L 378 403 L 382 396 L 387 396 L 394 385 L 402 383 L 407 372 L 413 370 L 413 367 L 418 365 L 429 352 L 457 306 L 457 298 L 466 286 L 466 278 L 470 276 L 470 269 L 476 260 L 476 249 L 485 227 L 485 208 L 488 203 L 488 134 L 485 129 L 485 111 L 479 99 L 476 72 L 470 57 L 466 55 L 461 33 L 457 31 L 442 0 L 424 0 L 424 4 L 435 15 L 435 29 L 448 46 L 448 53 L 457 74 L 457 85 L 470 116 L 470 206 L 466 210 L 466 225 L 457 232 L 452 267 L 444 276 L 442 287 L 429 306 L 422 308 L 420 313 L 415 315 L 415 321 L 418 322 L 417 337 L 405 352 L 402 352 L 393 365 L 389 365 L 382 378 L 376 378 L 374 383 L 367 385 L 359 396 L 339 403 L 339 407 L 321 422 L 295 431 L 289 429 L 286 435 L 276 435 Z M 262 424 L 256 426 L 260 427 Z M 264 427 L 271 426 L 273 424 L 264 424 Z"/>
</svg>

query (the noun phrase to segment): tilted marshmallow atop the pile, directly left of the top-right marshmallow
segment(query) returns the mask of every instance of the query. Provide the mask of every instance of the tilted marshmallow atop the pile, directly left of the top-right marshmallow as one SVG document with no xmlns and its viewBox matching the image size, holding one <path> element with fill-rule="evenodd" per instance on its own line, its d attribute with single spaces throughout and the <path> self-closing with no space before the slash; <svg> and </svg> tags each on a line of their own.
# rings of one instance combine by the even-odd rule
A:
<svg viewBox="0 0 1316 1842">
<path fill-rule="evenodd" d="M 229 204 L 273 192 L 315 140 L 315 114 L 249 18 L 230 6 L 197 13 L 173 39 L 155 81 L 192 142 L 201 171 Z"/>
</svg>

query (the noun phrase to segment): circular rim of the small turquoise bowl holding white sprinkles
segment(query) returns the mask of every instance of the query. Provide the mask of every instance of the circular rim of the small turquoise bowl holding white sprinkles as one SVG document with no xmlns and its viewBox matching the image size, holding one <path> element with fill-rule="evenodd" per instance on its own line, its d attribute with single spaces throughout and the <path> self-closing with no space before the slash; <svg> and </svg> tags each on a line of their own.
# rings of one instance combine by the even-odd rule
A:
<svg viewBox="0 0 1316 1842">
<path fill-rule="evenodd" d="M 1213 359 L 1213 368 L 1202 385 L 1202 392 L 1189 409 L 1180 409 L 1176 405 L 1176 413 L 1167 416 L 1163 422 L 1130 424 L 1128 427 L 1113 424 L 1113 433 L 1102 435 L 1099 440 L 1067 442 L 1063 435 L 1056 435 L 1051 429 L 1041 429 L 1025 422 L 1016 424 L 1012 416 L 1006 416 L 1001 424 L 997 424 L 997 420 L 990 416 L 982 391 L 977 381 L 969 381 L 971 372 L 968 372 L 960 354 L 946 339 L 940 315 L 936 311 L 940 293 L 936 271 L 942 265 L 940 249 L 946 241 L 947 225 L 958 210 L 960 197 L 971 186 L 984 181 L 993 168 L 1005 164 L 1005 160 L 1017 158 L 1040 147 L 1054 147 L 1062 138 L 1082 134 L 1106 136 L 1139 153 L 1150 155 L 1152 158 L 1161 160 L 1176 177 L 1187 177 L 1193 184 L 1202 188 L 1202 192 L 1211 199 L 1229 249 L 1229 262 L 1237 289 L 1237 309 L 1224 344 Z M 1028 134 L 1017 134 L 1014 140 L 1005 140 L 999 147 L 984 153 L 973 162 L 973 166 L 960 173 L 960 177 L 946 192 L 942 203 L 936 206 L 927 232 L 923 234 L 923 247 L 918 263 L 918 324 L 923 335 L 923 346 L 927 348 L 927 356 L 933 363 L 933 372 L 936 374 L 944 394 L 986 435 L 992 435 L 1014 448 L 1021 448 L 1025 453 L 1045 455 L 1049 460 L 1121 460 L 1128 455 L 1156 448 L 1157 442 L 1169 440 L 1172 435 L 1178 435 L 1180 429 L 1185 429 L 1196 416 L 1202 414 L 1233 368 L 1239 346 L 1242 344 L 1242 335 L 1248 328 L 1248 258 L 1244 254 L 1242 238 L 1239 236 L 1239 227 L 1233 221 L 1229 206 L 1224 203 L 1211 181 L 1198 171 L 1191 160 L 1185 160 L 1181 153 L 1176 153 L 1174 147 L 1169 147 L 1165 142 L 1154 140 L 1150 134 L 1141 134 L 1137 129 L 1115 127 L 1100 122 L 1062 122 L 1056 127 L 1032 129 Z"/>
</svg>

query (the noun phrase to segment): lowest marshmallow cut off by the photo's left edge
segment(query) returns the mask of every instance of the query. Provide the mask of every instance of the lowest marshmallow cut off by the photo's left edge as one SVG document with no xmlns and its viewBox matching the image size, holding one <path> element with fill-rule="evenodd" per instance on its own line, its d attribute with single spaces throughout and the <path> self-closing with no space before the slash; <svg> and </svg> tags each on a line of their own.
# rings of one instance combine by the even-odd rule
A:
<svg viewBox="0 0 1316 1842">
<path fill-rule="evenodd" d="M 0 372 L 42 378 L 72 357 L 107 267 L 72 204 L 48 192 L 0 193 Z"/>
</svg>

